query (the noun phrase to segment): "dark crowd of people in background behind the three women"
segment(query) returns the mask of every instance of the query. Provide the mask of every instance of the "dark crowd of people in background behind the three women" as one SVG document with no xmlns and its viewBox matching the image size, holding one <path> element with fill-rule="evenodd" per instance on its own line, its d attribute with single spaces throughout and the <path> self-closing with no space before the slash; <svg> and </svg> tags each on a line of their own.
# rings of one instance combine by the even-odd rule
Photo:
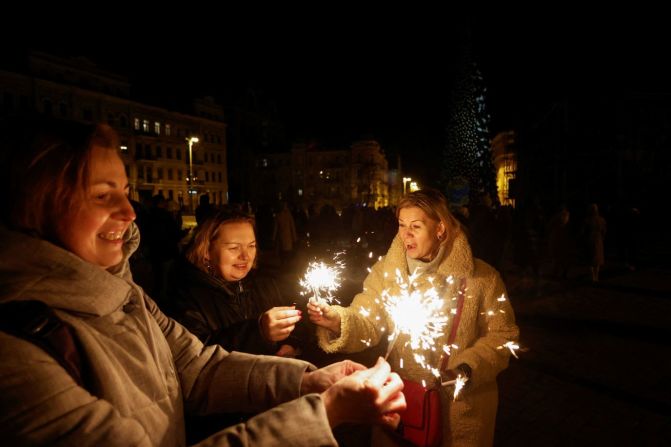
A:
<svg viewBox="0 0 671 447">
<path fill-rule="evenodd" d="M 165 202 L 155 196 L 145 205 L 134 203 L 138 225 L 148 237 L 133 260 L 143 285 L 158 299 L 164 298 L 166 272 L 191 236 L 181 229 L 179 208 Z M 220 208 L 210 204 L 206 194 L 199 203 L 198 221 Z M 310 257 L 331 251 L 353 254 L 364 247 L 366 254 L 380 255 L 397 231 L 393 207 L 350 205 L 336 210 L 329 204 L 298 206 L 286 201 L 237 207 L 255 218 L 259 253 L 279 257 L 284 271 L 297 273 Z M 530 282 L 542 277 L 599 282 L 606 255 L 628 270 L 635 270 L 639 262 L 641 215 L 635 206 L 607 207 L 604 216 L 594 203 L 569 207 L 532 199 L 513 208 L 479 194 L 451 211 L 464 226 L 474 255 L 504 280 L 515 273 Z"/>
</svg>

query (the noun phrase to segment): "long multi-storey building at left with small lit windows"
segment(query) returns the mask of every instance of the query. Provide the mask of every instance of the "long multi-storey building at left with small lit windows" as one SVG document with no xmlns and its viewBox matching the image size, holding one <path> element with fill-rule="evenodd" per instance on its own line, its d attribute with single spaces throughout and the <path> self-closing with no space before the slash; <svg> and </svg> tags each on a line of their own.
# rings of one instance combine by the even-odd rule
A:
<svg viewBox="0 0 671 447">
<path fill-rule="evenodd" d="M 120 136 L 135 200 L 160 194 L 188 210 L 191 184 L 194 206 L 203 194 L 228 202 L 226 123 L 212 98 L 195 100 L 191 114 L 175 112 L 131 100 L 127 79 L 86 59 L 32 53 L 20 73 L 0 70 L 0 101 L 3 115 L 108 123 Z M 198 138 L 191 165 L 190 137 Z"/>
</svg>

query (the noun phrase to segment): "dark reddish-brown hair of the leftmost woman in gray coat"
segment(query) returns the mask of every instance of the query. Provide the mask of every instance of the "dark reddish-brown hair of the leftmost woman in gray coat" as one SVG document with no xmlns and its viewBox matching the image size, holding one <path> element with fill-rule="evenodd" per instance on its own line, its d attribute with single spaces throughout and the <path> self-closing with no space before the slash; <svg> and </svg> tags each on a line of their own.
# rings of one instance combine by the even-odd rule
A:
<svg viewBox="0 0 671 447">
<path fill-rule="evenodd" d="M 2 122 L 0 135 L 2 222 L 52 241 L 60 217 L 86 193 L 93 147 L 119 147 L 106 124 L 13 118 Z"/>
</svg>

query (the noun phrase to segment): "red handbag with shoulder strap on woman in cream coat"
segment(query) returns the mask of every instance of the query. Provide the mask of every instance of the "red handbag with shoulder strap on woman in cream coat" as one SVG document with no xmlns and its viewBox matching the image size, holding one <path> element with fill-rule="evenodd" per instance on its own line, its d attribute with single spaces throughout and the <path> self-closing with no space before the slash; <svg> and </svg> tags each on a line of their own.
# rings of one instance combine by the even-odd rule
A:
<svg viewBox="0 0 671 447">
<path fill-rule="evenodd" d="M 448 344 L 452 344 L 457 335 L 457 327 L 461 318 L 461 308 L 466 293 L 466 279 L 461 280 L 457 298 L 457 312 L 454 315 L 452 330 Z M 440 370 L 447 368 L 449 356 L 443 357 Z M 406 409 L 401 413 L 402 436 L 419 447 L 437 447 L 442 438 L 442 414 L 440 409 L 440 385 L 429 387 L 412 380 L 403 379 L 403 394 Z"/>
</svg>

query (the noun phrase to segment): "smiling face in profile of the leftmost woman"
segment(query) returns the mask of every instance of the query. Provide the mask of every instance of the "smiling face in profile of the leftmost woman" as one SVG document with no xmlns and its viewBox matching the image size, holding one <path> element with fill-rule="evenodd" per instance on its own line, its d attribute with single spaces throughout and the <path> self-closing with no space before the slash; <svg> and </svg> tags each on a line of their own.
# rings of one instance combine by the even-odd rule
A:
<svg viewBox="0 0 671 447">
<path fill-rule="evenodd" d="M 94 146 L 83 200 L 63 216 L 57 236 L 63 247 L 103 268 L 123 259 L 123 235 L 135 220 L 128 178 L 115 150 Z"/>
</svg>

